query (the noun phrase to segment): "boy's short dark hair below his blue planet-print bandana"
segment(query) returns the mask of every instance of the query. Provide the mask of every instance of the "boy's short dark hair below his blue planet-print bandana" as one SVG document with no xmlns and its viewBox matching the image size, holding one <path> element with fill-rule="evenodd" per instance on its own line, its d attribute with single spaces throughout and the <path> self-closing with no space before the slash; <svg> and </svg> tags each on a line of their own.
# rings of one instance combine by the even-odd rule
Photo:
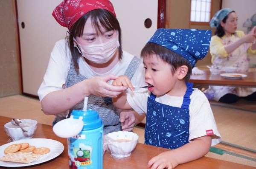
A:
<svg viewBox="0 0 256 169">
<path fill-rule="evenodd" d="M 188 81 L 192 72 L 192 65 L 189 63 L 187 59 L 180 56 L 179 54 L 163 47 L 160 45 L 157 45 L 155 43 L 147 43 L 144 48 L 142 49 L 140 56 L 142 58 L 148 57 L 152 54 L 157 55 L 160 59 L 162 59 L 164 62 L 169 63 L 172 70 L 172 75 L 174 75 L 175 71 L 180 66 L 187 66 L 188 67 L 188 73 L 185 76 L 185 80 Z"/>
</svg>

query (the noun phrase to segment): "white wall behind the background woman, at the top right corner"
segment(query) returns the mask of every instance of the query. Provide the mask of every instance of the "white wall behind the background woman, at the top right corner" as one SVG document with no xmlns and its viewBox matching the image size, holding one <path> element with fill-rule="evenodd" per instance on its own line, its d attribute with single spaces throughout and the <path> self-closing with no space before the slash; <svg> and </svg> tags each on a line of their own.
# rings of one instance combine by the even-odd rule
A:
<svg viewBox="0 0 256 169">
<path fill-rule="evenodd" d="M 247 33 L 243 23 L 256 13 L 256 0 L 222 0 L 222 8 L 231 8 L 238 16 L 237 30 Z M 250 64 L 256 64 L 256 56 L 250 57 Z"/>
</svg>

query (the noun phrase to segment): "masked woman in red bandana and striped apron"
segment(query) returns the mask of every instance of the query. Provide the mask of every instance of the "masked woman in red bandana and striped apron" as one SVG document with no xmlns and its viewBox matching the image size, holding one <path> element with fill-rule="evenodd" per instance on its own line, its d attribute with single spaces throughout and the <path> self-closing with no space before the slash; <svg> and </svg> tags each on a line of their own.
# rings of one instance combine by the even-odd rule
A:
<svg viewBox="0 0 256 169">
<path fill-rule="evenodd" d="M 113 86 L 111 81 L 126 75 L 134 85 L 144 85 L 143 64 L 122 50 L 121 28 L 112 3 L 64 0 L 52 15 L 69 31 L 66 39 L 55 43 L 38 90 L 44 113 L 56 115 L 54 125 L 72 110 L 83 109 L 87 96 L 87 109 L 99 113 L 105 134 L 121 130 L 120 122 L 124 123 L 122 130 L 132 130 L 138 121 L 112 104 L 112 98 L 127 87 Z"/>
</svg>

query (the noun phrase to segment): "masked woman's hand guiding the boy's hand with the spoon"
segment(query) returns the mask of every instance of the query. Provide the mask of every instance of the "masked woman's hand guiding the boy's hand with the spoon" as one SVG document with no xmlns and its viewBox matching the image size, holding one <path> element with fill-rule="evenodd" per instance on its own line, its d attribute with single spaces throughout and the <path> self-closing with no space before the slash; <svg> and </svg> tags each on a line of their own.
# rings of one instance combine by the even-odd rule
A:
<svg viewBox="0 0 256 169">
<path fill-rule="evenodd" d="M 88 86 L 85 86 L 85 90 L 90 90 L 90 93 L 96 96 L 102 97 L 117 97 L 122 91 L 126 90 L 123 86 L 113 86 L 108 84 L 108 81 L 117 79 L 118 76 L 113 74 L 105 75 L 105 76 L 94 76 L 88 81 Z M 88 88 L 87 88 L 88 87 Z"/>
</svg>

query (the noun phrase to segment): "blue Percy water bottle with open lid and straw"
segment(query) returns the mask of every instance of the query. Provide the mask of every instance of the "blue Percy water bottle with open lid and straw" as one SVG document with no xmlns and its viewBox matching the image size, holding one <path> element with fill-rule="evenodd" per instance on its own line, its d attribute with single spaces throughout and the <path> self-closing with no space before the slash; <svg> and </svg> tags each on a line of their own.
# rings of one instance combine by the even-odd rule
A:
<svg viewBox="0 0 256 169">
<path fill-rule="evenodd" d="M 68 138 L 70 168 L 102 169 L 102 119 L 94 110 L 73 110 L 71 116 L 75 119 L 83 117 L 84 127 L 79 134 Z"/>
</svg>

